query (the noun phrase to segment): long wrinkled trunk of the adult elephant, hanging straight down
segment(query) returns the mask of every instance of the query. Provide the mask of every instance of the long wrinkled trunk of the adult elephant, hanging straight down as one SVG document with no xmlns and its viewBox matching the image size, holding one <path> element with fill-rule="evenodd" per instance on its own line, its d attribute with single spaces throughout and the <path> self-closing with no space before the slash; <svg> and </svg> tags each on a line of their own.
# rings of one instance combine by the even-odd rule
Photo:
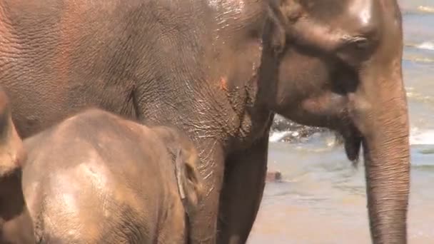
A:
<svg viewBox="0 0 434 244">
<path fill-rule="evenodd" d="M 371 63 L 365 69 L 360 79 L 361 86 L 352 98 L 352 115 L 363 135 L 373 243 L 407 243 L 410 188 L 408 105 L 400 59 L 388 63 L 390 65 L 386 66 Z"/>
</svg>

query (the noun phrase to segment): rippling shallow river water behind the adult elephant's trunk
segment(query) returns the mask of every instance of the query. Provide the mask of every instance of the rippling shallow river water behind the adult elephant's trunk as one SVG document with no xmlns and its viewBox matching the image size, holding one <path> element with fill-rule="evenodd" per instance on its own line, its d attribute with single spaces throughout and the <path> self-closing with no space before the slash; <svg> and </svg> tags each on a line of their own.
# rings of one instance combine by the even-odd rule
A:
<svg viewBox="0 0 434 244">
<path fill-rule="evenodd" d="M 410 243 L 434 243 L 434 0 L 401 0 L 403 72 L 411 126 Z M 260 243 L 370 243 L 363 163 L 354 169 L 333 135 L 278 142 L 271 134 L 267 183 L 248 240 Z"/>
</svg>

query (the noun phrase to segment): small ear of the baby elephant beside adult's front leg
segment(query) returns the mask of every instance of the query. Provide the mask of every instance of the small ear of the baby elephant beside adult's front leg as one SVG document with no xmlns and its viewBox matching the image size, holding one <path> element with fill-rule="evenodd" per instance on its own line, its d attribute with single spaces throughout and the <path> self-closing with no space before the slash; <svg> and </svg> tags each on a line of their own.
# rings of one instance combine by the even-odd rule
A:
<svg viewBox="0 0 434 244">
<path fill-rule="evenodd" d="M 198 203 L 202 198 L 203 185 L 198 172 L 198 155 L 194 148 L 178 148 L 176 153 L 176 180 L 179 195 L 189 217 L 196 213 Z"/>
</svg>

